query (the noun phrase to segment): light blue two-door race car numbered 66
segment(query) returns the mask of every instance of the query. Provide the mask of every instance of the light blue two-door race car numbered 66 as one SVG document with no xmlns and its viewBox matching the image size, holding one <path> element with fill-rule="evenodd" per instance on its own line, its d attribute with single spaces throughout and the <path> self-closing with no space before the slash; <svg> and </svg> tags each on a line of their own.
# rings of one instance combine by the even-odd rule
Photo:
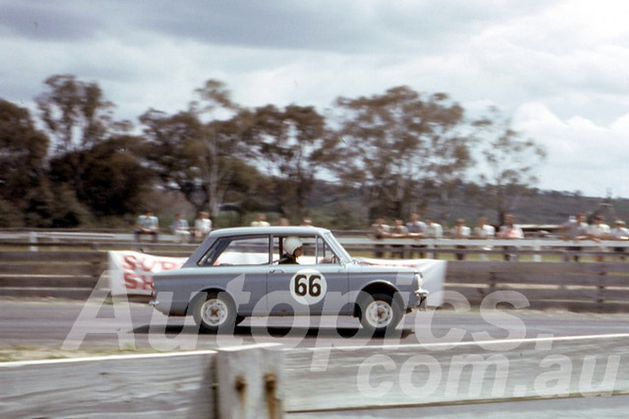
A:
<svg viewBox="0 0 629 419">
<path fill-rule="evenodd" d="M 418 269 L 362 264 L 309 226 L 213 231 L 182 268 L 153 280 L 157 310 L 192 315 L 206 332 L 233 332 L 250 316 L 348 315 L 384 334 L 428 295 Z"/>
</svg>

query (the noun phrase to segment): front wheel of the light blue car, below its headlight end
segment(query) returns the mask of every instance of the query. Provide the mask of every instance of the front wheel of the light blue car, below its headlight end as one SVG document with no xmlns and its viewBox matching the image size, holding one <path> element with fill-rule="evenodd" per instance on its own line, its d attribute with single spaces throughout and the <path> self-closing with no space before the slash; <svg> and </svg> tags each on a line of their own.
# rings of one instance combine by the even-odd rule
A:
<svg viewBox="0 0 629 419">
<path fill-rule="evenodd" d="M 399 303 L 389 294 L 374 293 L 360 303 L 360 324 L 377 335 L 395 329 L 402 315 Z"/>
</svg>

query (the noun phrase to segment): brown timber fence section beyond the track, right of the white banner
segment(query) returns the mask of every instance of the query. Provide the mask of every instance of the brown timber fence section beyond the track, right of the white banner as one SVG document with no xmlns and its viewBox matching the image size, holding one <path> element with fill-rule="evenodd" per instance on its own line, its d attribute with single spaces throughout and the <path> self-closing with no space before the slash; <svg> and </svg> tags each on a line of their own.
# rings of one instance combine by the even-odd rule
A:
<svg viewBox="0 0 629 419">
<path fill-rule="evenodd" d="M 506 307 L 627 312 L 629 264 L 449 261 L 446 290 L 457 291 L 472 306 L 485 302 L 490 307 L 498 303 Z M 495 291 L 515 293 L 501 295 Z"/>
</svg>

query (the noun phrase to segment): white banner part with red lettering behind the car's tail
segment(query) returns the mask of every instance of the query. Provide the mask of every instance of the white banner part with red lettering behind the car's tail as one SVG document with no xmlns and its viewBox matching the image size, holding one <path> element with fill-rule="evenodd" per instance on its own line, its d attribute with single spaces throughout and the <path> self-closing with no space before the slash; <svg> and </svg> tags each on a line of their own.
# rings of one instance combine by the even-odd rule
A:
<svg viewBox="0 0 629 419">
<path fill-rule="evenodd" d="M 111 295 L 151 295 L 153 274 L 181 268 L 186 260 L 131 251 L 110 251 Z"/>
</svg>

